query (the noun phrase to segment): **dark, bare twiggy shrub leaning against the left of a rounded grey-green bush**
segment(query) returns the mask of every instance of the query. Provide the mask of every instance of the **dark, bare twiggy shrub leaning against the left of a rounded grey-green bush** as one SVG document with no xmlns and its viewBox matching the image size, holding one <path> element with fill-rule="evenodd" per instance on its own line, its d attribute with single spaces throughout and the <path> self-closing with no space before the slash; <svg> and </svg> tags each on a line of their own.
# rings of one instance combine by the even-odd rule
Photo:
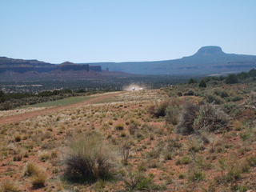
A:
<svg viewBox="0 0 256 192">
<path fill-rule="evenodd" d="M 176 132 L 178 134 L 192 134 L 194 132 L 194 119 L 198 117 L 199 106 L 190 102 L 183 106 L 180 121 Z"/>
</svg>

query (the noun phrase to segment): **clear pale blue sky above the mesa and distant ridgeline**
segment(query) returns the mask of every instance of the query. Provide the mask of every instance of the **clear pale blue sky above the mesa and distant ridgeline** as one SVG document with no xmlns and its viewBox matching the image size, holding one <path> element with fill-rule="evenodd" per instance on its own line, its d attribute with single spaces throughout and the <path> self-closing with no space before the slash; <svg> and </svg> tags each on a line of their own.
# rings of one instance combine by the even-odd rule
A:
<svg viewBox="0 0 256 192">
<path fill-rule="evenodd" d="M 0 56 L 61 62 L 256 55 L 255 0 L 0 0 Z"/>
</svg>

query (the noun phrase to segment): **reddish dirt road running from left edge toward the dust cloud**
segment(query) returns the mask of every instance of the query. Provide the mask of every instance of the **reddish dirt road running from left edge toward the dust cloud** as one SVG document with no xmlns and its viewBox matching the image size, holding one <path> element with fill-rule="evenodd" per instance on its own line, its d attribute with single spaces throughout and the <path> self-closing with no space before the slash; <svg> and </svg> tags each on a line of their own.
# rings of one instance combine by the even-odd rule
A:
<svg viewBox="0 0 256 192">
<path fill-rule="evenodd" d="M 13 116 L 6 117 L 6 118 L 1 118 L 0 119 L 0 126 L 2 126 L 5 123 L 17 122 L 17 121 L 24 120 L 26 118 L 33 118 L 33 117 L 36 117 L 36 116 L 39 116 L 39 115 L 42 115 L 42 114 L 50 114 L 50 113 L 53 113 L 53 112 L 58 111 L 58 110 L 65 110 L 65 109 L 69 109 L 69 108 L 76 107 L 76 106 L 86 106 L 86 105 L 94 104 L 95 102 L 100 102 L 103 99 L 111 98 L 111 97 L 114 97 L 118 94 L 121 94 L 121 92 L 119 92 L 119 93 L 115 92 L 113 94 L 103 94 L 103 95 L 100 95 L 96 98 L 90 98 L 90 99 L 88 99 L 84 102 L 77 102 L 77 103 L 74 103 L 74 104 L 69 105 L 69 106 L 58 106 L 58 107 L 54 107 L 54 108 L 50 108 L 50 109 L 38 110 L 38 111 L 29 112 L 29 113 L 26 113 L 26 114 L 17 114 L 17 115 L 13 115 Z"/>
</svg>

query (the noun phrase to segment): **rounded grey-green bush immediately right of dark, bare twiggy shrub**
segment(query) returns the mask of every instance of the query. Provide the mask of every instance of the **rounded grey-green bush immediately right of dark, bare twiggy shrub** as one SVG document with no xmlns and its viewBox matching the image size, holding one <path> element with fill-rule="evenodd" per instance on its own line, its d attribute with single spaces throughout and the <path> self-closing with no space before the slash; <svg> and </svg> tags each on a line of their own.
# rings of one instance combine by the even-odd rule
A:
<svg viewBox="0 0 256 192">
<path fill-rule="evenodd" d="M 194 119 L 194 130 L 198 132 L 219 130 L 229 122 L 228 115 L 220 106 L 205 104 L 200 107 L 199 115 Z"/>
</svg>

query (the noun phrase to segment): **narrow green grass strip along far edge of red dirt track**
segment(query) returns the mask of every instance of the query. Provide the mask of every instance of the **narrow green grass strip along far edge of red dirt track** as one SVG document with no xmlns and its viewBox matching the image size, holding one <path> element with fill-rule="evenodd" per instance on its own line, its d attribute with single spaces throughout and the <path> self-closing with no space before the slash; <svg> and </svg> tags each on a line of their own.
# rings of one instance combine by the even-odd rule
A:
<svg viewBox="0 0 256 192">
<path fill-rule="evenodd" d="M 59 106 L 59 105 L 68 106 L 68 105 L 72 105 L 77 102 L 86 101 L 87 99 L 90 99 L 90 98 L 95 98 L 95 97 L 64 98 L 64 99 L 60 99 L 60 100 L 56 100 L 56 101 L 52 101 L 52 102 L 42 102 L 42 103 L 30 105 L 30 106 L 22 106 L 22 108 L 24 109 L 24 108 L 28 108 L 28 107 L 50 107 L 50 106 Z"/>
</svg>

